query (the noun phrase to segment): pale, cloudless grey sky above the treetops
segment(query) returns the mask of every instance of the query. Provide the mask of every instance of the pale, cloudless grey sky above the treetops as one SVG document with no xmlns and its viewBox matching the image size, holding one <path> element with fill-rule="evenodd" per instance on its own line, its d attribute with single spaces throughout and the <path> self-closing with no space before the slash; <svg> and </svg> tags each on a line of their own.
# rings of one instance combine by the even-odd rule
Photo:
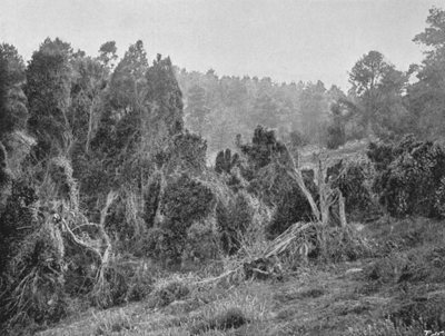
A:
<svg viewBox="0 0 445 336">
<path fill-rule="evenodd" d="M 26 60 L 59 37 L 97 56 L 120 56 L 142 40 L 148 56 L 170 56 L 188 71 L 322 80 L 346 90 L 348 71 L 370 50 L 399 70 L 423 59 L 413 38 L 441 0 L 0 0 L 0 41 Z"/>
</svg>

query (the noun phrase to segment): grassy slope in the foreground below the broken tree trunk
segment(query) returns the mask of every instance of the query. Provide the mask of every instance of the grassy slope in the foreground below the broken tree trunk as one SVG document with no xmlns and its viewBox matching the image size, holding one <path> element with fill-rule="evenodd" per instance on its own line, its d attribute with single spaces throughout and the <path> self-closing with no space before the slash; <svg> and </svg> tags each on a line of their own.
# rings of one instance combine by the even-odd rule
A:
<svg viewBox="0 0 445 336">
<path fill-rule="evenodd" d="M 445 324 L 444 223 L 383 219 L 362 233 L 376 243 L 372 259 L 312 265 L 281 281 L 194 285 L 166 307 L 148 299 L 88 310 L 41 335 L 423 335 Z M 248 323 L 206 330 L 230 308 Z M 388 319 L 389 318 L 389 319 Z M 390 322 L 392 320 L 392 322 Z M 394 323 L 412 324 L 394 327 Z M 422 325 L 423 324 L 423 325 Z M 199 328 L 200 327 L 200 328 Z"/>
</svg>

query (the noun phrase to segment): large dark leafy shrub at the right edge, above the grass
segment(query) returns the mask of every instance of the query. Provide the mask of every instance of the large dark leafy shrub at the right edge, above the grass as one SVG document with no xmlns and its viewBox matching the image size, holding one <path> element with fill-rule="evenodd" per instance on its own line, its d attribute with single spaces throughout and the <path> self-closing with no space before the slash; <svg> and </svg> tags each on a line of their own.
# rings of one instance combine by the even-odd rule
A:
<svg viewBox="0 0 445 336">
<path fill-rule="evenodd" d="M 375 190 L 387 211 L 395 217 L 442 217 L 444 150 L 413 136 L 405 137 L 390 150 L 387 145 L 380 147 L 373 145 L 368 156 L 380 165 Z"/>
</svg>

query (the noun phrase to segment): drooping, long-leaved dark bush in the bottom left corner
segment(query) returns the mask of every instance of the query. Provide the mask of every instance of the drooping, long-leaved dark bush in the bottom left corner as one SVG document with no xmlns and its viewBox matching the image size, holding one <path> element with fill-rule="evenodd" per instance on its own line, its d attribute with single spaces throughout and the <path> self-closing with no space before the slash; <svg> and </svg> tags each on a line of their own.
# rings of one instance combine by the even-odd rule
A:
<svg viewBox="0 0 445 336">
<path fill-rule="evenodd" d="M 1 316 L 10 325 L 57 322 L 65 316 L 63 255 L 60 230 L 51 220 L 23 239 L 8 265 L 1 296 Z"/>
</svg>

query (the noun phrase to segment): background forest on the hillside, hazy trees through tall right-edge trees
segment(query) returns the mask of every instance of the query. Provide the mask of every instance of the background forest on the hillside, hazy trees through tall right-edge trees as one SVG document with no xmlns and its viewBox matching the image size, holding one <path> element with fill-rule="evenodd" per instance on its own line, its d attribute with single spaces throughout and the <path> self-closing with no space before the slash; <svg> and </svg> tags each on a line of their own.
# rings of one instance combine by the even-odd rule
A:
<svg viewBox="0 0 445 336">
<path fill-rule="evenodd" d="M 414 38 L 428 48 L 421 65 L 398 70 L 378 51 L 363 55 L 349 73 L 350 89 L 317 82 L 277 83 L 270 78 L 218 77 L 176 68 L 185 98 L 186 126 L 209 142 L 210 151 L 234 147 L 260 123 L 296 146 L 336 148 L 375 136 L 443 136 L 445 121 L 443 11 L 433 9 L 431 29 Z"/>
</svg>

